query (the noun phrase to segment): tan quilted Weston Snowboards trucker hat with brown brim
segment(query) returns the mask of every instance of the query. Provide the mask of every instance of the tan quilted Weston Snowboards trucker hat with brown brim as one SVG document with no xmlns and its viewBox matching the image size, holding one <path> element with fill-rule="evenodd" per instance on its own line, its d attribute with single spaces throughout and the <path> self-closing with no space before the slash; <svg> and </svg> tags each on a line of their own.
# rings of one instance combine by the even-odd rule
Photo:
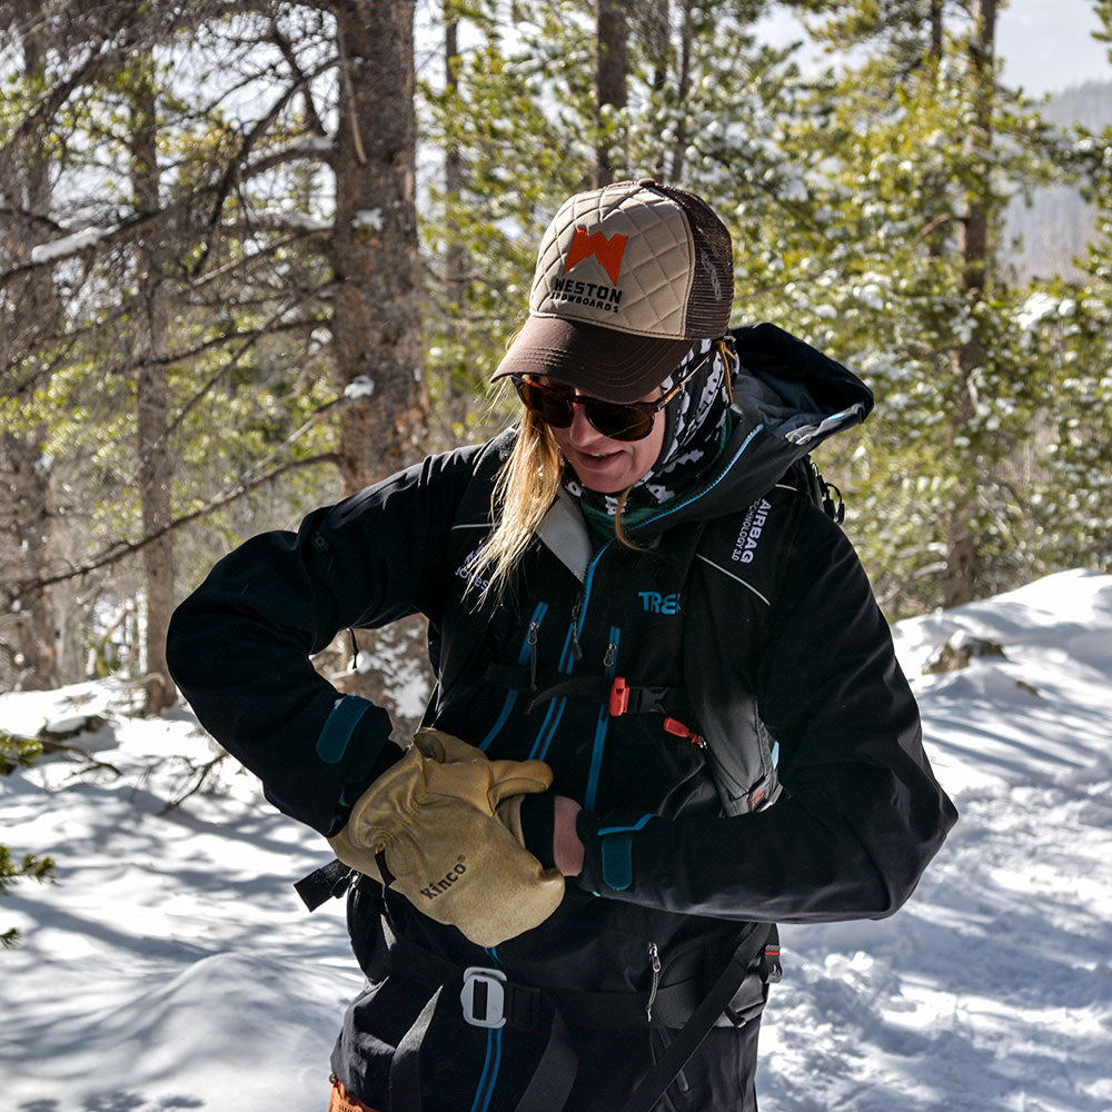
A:
<svg viewBox="0 0 1112 1112">
<path fill-rule="evenodd" d="M 702 198 L 652 178 L 576 193 L 545 232 L 529 319 L 493 379 L 546 375 L 636 401 L 695 340 L 725 332 L 733 298 L 729 232 Z"/>
</svg>

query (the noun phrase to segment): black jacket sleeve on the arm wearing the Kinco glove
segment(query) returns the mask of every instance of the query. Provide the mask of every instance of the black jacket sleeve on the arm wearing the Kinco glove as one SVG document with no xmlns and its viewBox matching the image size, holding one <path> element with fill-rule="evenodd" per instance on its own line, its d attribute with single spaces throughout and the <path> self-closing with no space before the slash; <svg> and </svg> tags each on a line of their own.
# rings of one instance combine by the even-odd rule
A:
<svg viewBox="0 0 1112 1112">
<path fill-rule="evenodd" d="M 344 792 L 396 756 L 385 711 L 341 696 L 309 656 L 340 631 L 417 612 L 436 623 L 455 508 L 476 449 L 423 464 L 254 537 L 175 612 L 167 659 L 209 733 L 280 811 L 322 834 Z"/>
</svg>

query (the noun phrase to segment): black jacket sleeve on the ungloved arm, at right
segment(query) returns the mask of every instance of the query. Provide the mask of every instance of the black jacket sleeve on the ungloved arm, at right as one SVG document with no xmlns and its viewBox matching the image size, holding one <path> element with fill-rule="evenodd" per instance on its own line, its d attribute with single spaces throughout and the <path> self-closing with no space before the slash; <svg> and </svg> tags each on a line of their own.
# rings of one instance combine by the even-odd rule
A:
<svg viewBox="0 0 1112 1112">
<path fill-rule="evenodd" d="M 736 642 L 729 615 L 708 631 Z M 804 515 L 757 664 L 784 792 L 733 818 L 583 812 L 578 883 L 687 914 L 780 922 L 880 917 L 914 891 L 956 821 L 919 709 L 848 540 Z M 728 649 L 727 649 L 728 651 Z"/>
</svg>

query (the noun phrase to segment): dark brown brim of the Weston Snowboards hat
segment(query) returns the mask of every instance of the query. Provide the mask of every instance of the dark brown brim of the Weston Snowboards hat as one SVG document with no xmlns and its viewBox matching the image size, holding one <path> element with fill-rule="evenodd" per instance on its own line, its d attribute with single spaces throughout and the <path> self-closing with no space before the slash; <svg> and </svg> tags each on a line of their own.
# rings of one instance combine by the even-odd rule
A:
<svg viewBox="0 0 1112 1112">
<path fill-rule="evenodd" d="M 605 401 L 637 401 L 679 366 L 694 342 L 530 316 L 490 380 L 544 375 Z"/>
</svg>

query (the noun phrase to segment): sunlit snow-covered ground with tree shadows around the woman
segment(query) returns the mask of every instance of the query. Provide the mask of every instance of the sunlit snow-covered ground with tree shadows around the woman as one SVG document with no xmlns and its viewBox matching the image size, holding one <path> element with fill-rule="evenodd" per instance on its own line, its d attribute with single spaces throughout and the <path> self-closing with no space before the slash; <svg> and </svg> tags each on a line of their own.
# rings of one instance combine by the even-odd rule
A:
<svg viewBox="0 0 1112 1112">
<path fill-rule="evenodd" d="M 920 675 L 947 639 L 1004 657 Z M 1112 576 L 1070 572 L 902 623 L 927 744 L 962 820 L 881 922 L 787 927 L 764 1112 L 1112 1109 Z M 340 903 L 290 881 L 330 856 L 210 743 L 113 683 L 0 696 L 0 728 L 107 718 L 0 781 L 0 841 L 58 882 L 0 900 L 0 1112 L 322 1112 L 359 987 Z M 108 767 L 108 766 L 111 767 Z"/>
</svg>

